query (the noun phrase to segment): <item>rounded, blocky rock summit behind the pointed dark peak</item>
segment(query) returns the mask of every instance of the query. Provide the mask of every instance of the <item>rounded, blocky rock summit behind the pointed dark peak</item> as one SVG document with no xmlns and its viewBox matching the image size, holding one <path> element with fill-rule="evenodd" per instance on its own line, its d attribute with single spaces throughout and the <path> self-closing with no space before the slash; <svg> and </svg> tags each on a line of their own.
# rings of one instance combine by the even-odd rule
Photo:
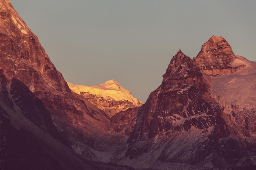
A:
<svg viewBox="0 0 256 170">
<path fill-rule="evenodd" d="M 194 58 L 206 75 L 227 75 L 245 68 L 244 64 L 233 64 L 234 55 L 229 43 L 222 37 L 212 36 Z"/>
</svg>

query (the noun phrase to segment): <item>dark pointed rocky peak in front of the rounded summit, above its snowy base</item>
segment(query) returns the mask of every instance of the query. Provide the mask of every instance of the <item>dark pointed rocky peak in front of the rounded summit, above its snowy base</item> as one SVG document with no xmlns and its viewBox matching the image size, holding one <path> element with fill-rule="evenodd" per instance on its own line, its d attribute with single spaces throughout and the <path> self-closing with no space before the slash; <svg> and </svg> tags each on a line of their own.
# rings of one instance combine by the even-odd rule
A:
<svg viewBox="0 0 256 170">
<path fill-rule="evenodd" d="M 189 130 L 191 124 L 207 129 L 216 124 L 215 117 L 220 113 L 199 67 L 178 51 L 163 75 L 161 86 L 148 97 L 135 135 L 147 134 L 149 138 L 161 132 L 171 135 L 173 131 Z"/>
</svg>

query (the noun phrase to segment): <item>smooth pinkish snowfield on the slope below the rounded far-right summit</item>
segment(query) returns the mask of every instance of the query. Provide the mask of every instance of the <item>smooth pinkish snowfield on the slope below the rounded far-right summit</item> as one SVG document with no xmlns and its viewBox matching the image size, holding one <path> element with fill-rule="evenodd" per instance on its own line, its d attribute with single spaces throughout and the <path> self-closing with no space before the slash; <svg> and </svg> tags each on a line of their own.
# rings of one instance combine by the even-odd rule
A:
<svg viewBox="0 0 256 170">
<path fill-rule="evenodd" d="M 232 104 L 241 111 L 256 107 L 256 62 L 236 57 L 235 64 L 244 64 L 245 69 L 210 79 L 214 87 L 211 95 L 225 106 L 225 113 L 231 113 Z"/>
</svg>

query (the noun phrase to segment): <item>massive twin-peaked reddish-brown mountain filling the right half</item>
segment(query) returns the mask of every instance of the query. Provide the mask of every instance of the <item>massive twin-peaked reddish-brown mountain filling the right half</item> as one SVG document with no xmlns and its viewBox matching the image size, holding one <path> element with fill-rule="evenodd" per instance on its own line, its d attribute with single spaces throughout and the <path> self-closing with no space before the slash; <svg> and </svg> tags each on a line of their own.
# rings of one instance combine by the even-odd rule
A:
<svg viewBox="0 0 256 170">
<path fill-rule="evenodd" d="M 193 60 L 178 51 L 137 115 L 128 165 L 254 169 L 255 73 L 256 62 L 234 55 L 222 37 L 211 37 Z"/>
</svg>

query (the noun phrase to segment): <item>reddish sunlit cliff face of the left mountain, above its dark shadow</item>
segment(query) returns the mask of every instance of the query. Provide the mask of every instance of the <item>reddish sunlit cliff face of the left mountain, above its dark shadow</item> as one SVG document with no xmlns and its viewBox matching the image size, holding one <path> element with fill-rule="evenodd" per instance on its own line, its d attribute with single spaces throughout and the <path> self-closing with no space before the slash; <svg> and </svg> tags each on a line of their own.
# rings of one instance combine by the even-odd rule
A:
<svg viewBox="0 0 256 170">
<path fill-rule="evenodd" d="M 0 3 L 0 68 L 6 78 L 20 81 L 42 100 L 58 131 L 70 143 L 76 140 L 74 136 L 80 136 L 81 131 L 90 140 L 97 140 L 88 129 L 103 132 L 102 127 L 110 119 L 108 115 L 70 90 L 36 35 L 12 5 L 5 0 Z M 17 92 L 17 101 L 22 95 Z M 34 120 L 38 121 L 36 117 Z"/>
</svg>

